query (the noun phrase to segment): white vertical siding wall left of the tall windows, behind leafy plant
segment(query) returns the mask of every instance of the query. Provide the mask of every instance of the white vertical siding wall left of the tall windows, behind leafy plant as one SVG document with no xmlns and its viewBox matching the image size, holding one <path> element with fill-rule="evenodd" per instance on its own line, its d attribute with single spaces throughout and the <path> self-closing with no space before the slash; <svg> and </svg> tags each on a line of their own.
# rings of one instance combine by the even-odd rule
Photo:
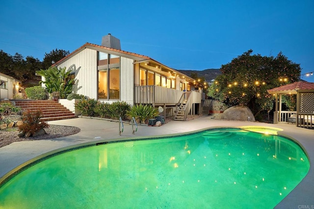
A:
<svg viewBox="0 0 314 209">
<path fill-rule="evenodd" d="M 73 67 L 76 71 L 76 84 L 74 92 L 97 99 L 97 51 L 85 48 L 75 56 L 66 60 L 58 68 Z"/>
</svg>

